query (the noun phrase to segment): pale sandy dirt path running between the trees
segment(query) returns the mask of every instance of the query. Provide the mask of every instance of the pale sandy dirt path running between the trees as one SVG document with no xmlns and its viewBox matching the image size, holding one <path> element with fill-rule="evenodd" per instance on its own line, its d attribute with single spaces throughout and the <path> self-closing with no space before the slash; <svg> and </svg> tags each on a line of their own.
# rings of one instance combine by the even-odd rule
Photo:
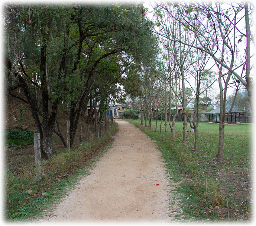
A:
<svg viewBox="0 0 256 226">
<path fill-rule="evenodd" d="M 116 122 L 119 131 L 112 147 L 57 206 L 48 222 L 171 221 L 170 187 L 160 152 L 134 125 Z"/>
</svg>

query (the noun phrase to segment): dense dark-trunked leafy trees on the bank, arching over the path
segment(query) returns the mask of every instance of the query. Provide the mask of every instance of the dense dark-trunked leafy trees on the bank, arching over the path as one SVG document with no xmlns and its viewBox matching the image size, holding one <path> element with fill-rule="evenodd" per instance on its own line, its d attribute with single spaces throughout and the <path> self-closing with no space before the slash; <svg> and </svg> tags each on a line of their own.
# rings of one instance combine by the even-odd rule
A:
<svg viewBox="0 0 256 226">
<path fill-rule="evenodd" d="M 125 7 L 128 20 L 138 23 L 142 5 Z M 54 132 L 65 144 L 58 110 L 68 111 L 72 146 L 87 104 L 89 117 L 95 102 L 106 110 L 111 98 L 122 98 L 117 83 L 126 82 L 124 72 L 155 57 L 155 35 L 121 18 L 112 5 L 5 5 L 6 95 L 30 106 L 42 157 L 54 154 Z M 153 27 L 152 22 L 147 24 Z M 25 98 L 15 94 L 17 89 Z"/>
</svg>

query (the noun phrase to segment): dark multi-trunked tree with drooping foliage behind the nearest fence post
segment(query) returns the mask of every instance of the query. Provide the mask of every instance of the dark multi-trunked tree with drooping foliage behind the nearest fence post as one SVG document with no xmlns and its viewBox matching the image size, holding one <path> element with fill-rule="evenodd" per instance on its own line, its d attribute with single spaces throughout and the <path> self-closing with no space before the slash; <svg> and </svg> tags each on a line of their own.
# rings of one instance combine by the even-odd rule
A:
<svg viewBox="0 0 256 226">
<path fill-rule="evenodd" d="M 62 80 L 66 77 L 67 33 L 69 17 L 73 7 L 55 7 L 48 5 L 6 5 L 5 6 L 5 55 L 6 67 L 12 83 L 19 83 L 26 100 L 14 94 L 16 98 L 27 102 L 31 108 L 37 130 L 41 137 L 42 156 L 52 157 L 51 136 L 60 102 L 58 90 L 49 89 L 47 66 L 51 55 L 57 63 L 51 68 L 51 74 Z M 58 39 L 58 43 L 54 40 Z M 47 50 L 58 48 L 58 57 Z M 56 52 L 55 52 L 56 53 Z M 59 91 L 62 90 L 59 87 Z M 38 92 L 36 91 L 38 90 Z M 36 92 L 35 92 L 36 91 Z M 41 94 L 41 106 L 37 94 Z M 41 119 L 42 118 L 42 122 Z"/>
</svg>

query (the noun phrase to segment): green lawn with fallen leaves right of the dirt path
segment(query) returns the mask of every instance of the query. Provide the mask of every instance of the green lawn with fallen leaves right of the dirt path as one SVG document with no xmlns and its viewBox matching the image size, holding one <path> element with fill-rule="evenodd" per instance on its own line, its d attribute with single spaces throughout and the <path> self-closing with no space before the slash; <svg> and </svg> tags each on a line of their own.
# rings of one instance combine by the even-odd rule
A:
<svg viewBox="0 0 256 226">
<path fill-rule="evenodd" d="M 140 120 L 127 121 L 156 141 L 166 162 L 167 176 L 180 189 L 184 215 L 225 221 L 251 220 L 253 124 L 225 125 L 224 162 L 220 164 L 216 162 L 218 124 L 200 122 L 199 148 L 194 152 L 193 132 L 187 132 L 187 143 L 180 145 L 183 122 L 175 122 L 176 138 L 171 139 L 168 123 L 164 135 L 164 123 L 160 134 L 160 121 L 157 132 L 154 132 L 156 120 L 152 121 L 151 130 L 140 126 Z M 189 125 L 187 130 L 190 131 Z"/>
</svg>

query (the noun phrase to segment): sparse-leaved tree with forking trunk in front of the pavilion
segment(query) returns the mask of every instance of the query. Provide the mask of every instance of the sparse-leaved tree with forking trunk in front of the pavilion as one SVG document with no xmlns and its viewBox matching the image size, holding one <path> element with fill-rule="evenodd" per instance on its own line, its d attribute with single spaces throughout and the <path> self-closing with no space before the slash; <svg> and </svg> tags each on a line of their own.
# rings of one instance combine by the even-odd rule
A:
<svg viewBox="0 0 256 226">
<path fill-rule="evenodd" d="M 176 39 L 178 42 L 183 45 L 199 49 L 202 52 L 206 52 L 211 56 L 215 61 L 218 70 L 220 71 L 219 78 L 223 81 L 224 86 L 222 86 L 221 81 L 219 82 L 220 86 L 220 106 L 223 117 L 221 121 L 225 121 L 225 98 L 226 98 L 226 89 L 228 86 L 229 79 L 231 78 L 232 84 L 237 88 L 238 83 L 243 84 L 250 92 L 252 96 L 252 86 L 249 71 L 251 70 L 251 54 L 250 52 L 250 43 L 253 42 L 254 34 L 249 30 L 249 24 L 251 23 L 248 20 L 249 14 L 253 12 L 253 6 L 244 3 L 226 3 L 222 4 L 220 2 L 210 2 L 209 4 L 205 3 L 193 3 L 193 4 L 177 4 L 170 3 L 174 8 L 180 12 L 180 17 L 177 17 L 174 11 L 169 10 L 168 13 L 172 15 L 173 20 L 177 20 L 179 23 L 186 27 L 186 30 L 190 30 L 191 34 L 194 34 L 198 40 L 196 43 L 189 43 L 184 41 L 181 38 Z M 227 9 L 225 9 L 227 7 Z M 165 7 L 166 8 L 166 7 Z M 248 9 L 248 11 L 247 11 Z M 243 14 L 244 12 L 244 14 Z M 250 12 L 250 13 L 249 13 Z M 198 20 L 198 15 L 204 15 L 203 20 Z M 245 19 L 245 20 L 244 20 Z M 240 26 L 241 21 L 245 21 L 247 25 L 247 30 L 243 29 L 244 26 Z M 160 22 L 159 22 L 160 23 Z M 165 33 L 157 32 L 161 36 L 167 37 Z M 246 35 L 247 32 L 247 35 Z M 239 51 L 237 51 L 238 46 L 243 42 L 243 38 L 247 37 L 245 46 L 246 52 L 242 57 L 240 57 Z M 174 38 L 171 40 L 175 41 Z M 224 50 L 223 47 L 224 46 Z M 240 47 L 241 48 L 241 47 Z M 246 65 L 246 67 L 245 67 Z M 247 66 L 248 65 L 248 66 Z M 227 70 L 224 72 L 222 70 Z M 245 73 L 246 71 L 246 73 Z M 227 75 L 225 77 L 225 75 Z M 224 78 L 225 77 L 225 78 Z M 237 83 L 234 82 L 235 78 Z M 248 83 L 247 83 L 248 81 Z M 222 95 L 223 94 L 223 95 Z M 249 93 L 248 93 L 249 94 Z M 252 101 L 249 101 L 252 103 Z M 222 104 L 223 103 L 223 104 Z M 224 108 L 223 108 L 224 107 Z M 223 136 L 224 136 L 224 122 L 220 123 L 219 128 L 219 153 L 217 155 L 217 161 L 223 161 Z"/>
</svg>

